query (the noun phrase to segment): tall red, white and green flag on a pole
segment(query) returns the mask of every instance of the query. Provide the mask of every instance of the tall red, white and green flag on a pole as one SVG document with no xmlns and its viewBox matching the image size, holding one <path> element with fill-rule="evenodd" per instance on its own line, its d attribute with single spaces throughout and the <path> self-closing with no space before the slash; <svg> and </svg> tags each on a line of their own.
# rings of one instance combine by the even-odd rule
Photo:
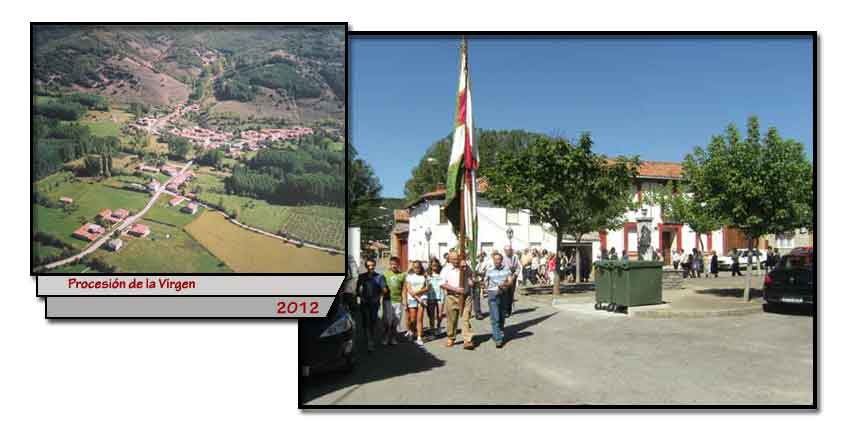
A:
<svg viewBox="0 0 860 430">
<path fill-rule="evenodd" d="M 454 117 L 454 141 L 448 163 L 448 181 L 445 192 L 445 216 L 451 221 L 454 232 L 460 234 L 460 205 L 463 205 L 463 235 L 466 249 L 472 260 L 478 239 L 477 171 L 478 143 L 472 127 L 472 91 L 469 79 L 469 60 L 466 40 L 460 46 L 460 82 L 457 88 L 457 107 Z"/>
</svg>

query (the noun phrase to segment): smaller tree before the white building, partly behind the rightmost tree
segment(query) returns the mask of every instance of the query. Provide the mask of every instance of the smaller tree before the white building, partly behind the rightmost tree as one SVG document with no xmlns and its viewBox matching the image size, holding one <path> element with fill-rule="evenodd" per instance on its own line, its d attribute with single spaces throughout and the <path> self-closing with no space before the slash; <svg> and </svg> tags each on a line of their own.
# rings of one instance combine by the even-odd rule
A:
<svg viewBox="0 0 860 430">
<path fill-rule="evenodd" d="M 707 204 L 696 201 L 685 183 L 669 182 L 662 189 L 645 194 L 644 202 L 659 206 L 663 222 L 687 224 L 696 233 L 699 249 L 704 249 L 701 236 L 719 229 L 725 223 L 708 210 Z"/>
</svg>

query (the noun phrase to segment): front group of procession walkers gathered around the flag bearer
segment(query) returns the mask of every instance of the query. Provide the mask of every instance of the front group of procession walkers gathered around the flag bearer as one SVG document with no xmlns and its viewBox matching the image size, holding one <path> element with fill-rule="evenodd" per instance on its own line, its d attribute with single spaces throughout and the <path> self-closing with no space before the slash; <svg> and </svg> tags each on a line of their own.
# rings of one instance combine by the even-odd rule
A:
<svg viewBox="0 0 860 430">
<path fill-rule="evenodd" d="M 489 257 L 481 253 L 474 265 L 455 250 L 443 259 L 444 264 L 435 257 L 429 264 L 412 261 L 405 273 L 397 257 L 389 259 L 383 273 L 377 271 L 375 259 L 365 260 L 366 271 L 358 276 L 355 294 L 369 352 L 377 344 L 412 341 L 423 346 L 437 338 L 447 339 L 446 346 L 452 347 L 458 328 L 463 348 L 474 349 L 470 320 L 486 318 L 481 311 L 482 297 L 489 305 L 492 339 L 497 348 L 503 347 L 505 320 L 513 312 L 522 273 L 519 255 L 506 247 L 504 253 L 493 251 Z"/>
</svg>

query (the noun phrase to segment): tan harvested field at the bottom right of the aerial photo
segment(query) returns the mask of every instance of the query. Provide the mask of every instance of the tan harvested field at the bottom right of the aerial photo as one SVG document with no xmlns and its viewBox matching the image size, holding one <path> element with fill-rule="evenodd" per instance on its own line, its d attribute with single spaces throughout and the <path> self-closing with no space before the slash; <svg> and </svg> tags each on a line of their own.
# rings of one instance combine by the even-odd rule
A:
<svg viewBox="0 0 860 430">
<path fill-rule="evenodd" d="M 236 272 L 343 272 L 344 257 L 245 230 L 205 211 L 185 230 Z"/>
</svg>

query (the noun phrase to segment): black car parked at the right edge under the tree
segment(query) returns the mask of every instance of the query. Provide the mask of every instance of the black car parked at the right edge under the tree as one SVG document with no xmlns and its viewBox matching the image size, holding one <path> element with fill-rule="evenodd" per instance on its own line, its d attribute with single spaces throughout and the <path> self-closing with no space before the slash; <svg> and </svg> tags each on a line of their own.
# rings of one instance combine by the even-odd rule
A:
<svg viewBox="0 0 860 430">
<path fill-rule="evenodd" d="M 795 248 L 784 255 L 764 277 L 764 300 L 768 305 L 815 305 L 815 251 Z"/>
</svg>

